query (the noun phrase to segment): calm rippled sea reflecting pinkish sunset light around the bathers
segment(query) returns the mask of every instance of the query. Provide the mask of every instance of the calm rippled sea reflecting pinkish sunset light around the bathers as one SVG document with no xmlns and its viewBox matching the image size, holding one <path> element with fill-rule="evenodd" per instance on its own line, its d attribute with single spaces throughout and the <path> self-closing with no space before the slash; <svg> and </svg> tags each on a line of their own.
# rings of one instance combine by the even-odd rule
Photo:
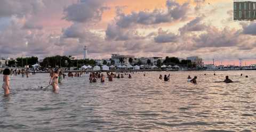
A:
<svg viewBox="0 0 256 132">
<path fill-rule="evenodd" d="M 169 73 L 170 81 L 158 79 Z M 58 93 L 38 88 L 49 74 L 11 77 L 11 95 L 1 88 L 0 131 L 256 131 L 256 71 L 213 73 L 138 72 L 105 83 L 67 77 Z M 214 83 L 226 75 L 239 83 Z"/>
</svg>

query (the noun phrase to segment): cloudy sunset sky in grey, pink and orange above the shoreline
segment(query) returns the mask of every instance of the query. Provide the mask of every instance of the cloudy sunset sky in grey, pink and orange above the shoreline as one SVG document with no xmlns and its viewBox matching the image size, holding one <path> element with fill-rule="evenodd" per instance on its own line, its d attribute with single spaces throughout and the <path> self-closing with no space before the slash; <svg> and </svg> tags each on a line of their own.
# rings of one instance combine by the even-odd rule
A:
<svg viewBox="0 0 256 132">
<path fill-rule="evenodd" d="M 256 63 L 256 23 L 233 21 L 233 1 L 1 0 L 0 55 L 109 58 L 201 56 Z"/>
</svg>

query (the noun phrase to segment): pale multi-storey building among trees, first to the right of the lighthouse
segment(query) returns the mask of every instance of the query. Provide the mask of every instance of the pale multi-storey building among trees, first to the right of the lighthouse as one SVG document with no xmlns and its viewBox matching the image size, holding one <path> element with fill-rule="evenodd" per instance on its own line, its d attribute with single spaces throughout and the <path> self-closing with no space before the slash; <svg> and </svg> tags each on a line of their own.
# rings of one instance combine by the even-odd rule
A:
<svg viewBox="0 0 256 132">
<path fill-rule="evenodd" d="M 134 59 L 132 55 L 119 55 L 119 54 L 112 54 L 111 60 L 115 61 L 115 65 L 129 65 L 129 59 Z"/>
</svg>

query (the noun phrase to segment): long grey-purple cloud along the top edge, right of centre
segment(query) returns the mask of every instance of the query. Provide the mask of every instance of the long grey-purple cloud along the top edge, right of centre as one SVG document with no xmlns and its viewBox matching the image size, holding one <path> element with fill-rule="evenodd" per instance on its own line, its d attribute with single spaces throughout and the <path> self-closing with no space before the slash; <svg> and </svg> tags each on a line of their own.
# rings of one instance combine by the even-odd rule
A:
<svg viewBox="0 0 256 132">
<path fill-rule="evenodd" d="M 155 9 L 153 12 L 140 11 L 131 14 L 117 13 L 116 24 L 121 28 L 133 27 L 137 24 L 151 25 L 173 22 L 186 18 L 189 3 L 179 4 L 174 0 L 166 1 L 166 11 Z"/>
</svg>

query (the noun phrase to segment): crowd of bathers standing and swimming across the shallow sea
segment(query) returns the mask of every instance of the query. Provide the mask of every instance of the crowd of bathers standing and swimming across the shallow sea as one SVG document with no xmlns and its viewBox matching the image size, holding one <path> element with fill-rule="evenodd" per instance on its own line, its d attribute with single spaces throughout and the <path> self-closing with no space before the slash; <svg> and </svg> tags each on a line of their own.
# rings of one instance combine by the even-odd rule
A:
<svg viewBox="0 0 256 132">
<path fill-rule="evenodd" d="M 4 69 L 4 70 L 0 70 L 0 73 L 3 74 L 3 85 L 2 88 L 4 89 L 4 95 L 9 95 L 10 94 L 10 76 L 18 76 L 21 75 L 22 77 L 29 77 L 29 75 L 35 75 L 36 72 L 33 71 L 32 73 L 29 72 L 28 69 L 21 69 L 21 70 L 10 70 L 10 69 Z M 105 82 L 105 75 L 101 72 L 68 72 L 68 77 L 82 77 L 84 74 L 90 74 L 89 75 L 89 81 L 90 83 L 96 83 L 97 81 L 100 81 L 101 83 Z M 107 79 L 108 81 L 113 81 L 113 78 L 125 78 L 125 76 L 127 78 L 132 78 L 131 74 L 134 74 L 133 71 L 130 72 L 107 72 Z M 206 74 L 204 74 L 206 76 Z M 213 74 L 214 76 L 216 76 L 216 74 Z M 143 76 L 146 76 L 146 72 L 143 73 Z M 241 74 L 241 76 L 243 76 L 243 74 Z M 50 70 L 50 81 L 49 81 L 49 85 L 43 89 L 49 88 L 50 86 L 52 86 L 53 91 L 56 92 L 59 89 L 59 84 L 62 83 L 62 80 L 65 79 L 66 74 L 63 73 L 60 69 L 55 68 L 55 69 L 51 69 Z M 246 78 L 248 78 L 248 76 L 245 76 Z M 159 79 L 164 79 L 164 81 L 169 81 L 170 80 L 170 74 L 164 75 L 164 77 L 162 75 L 159 75 Z M 195 76 L 194 78 L 191 78 L 190 76 L 188 76 L 188 82 L 191 82 L 193 84 L 197 84 L 197 76 Z M 224 81 L 219 81 L 219 82 L 215 82 L 215 83 L 234 83 L 233 80 L 229 79 L 228 76 L 226 76 Z"/>
</svg>

